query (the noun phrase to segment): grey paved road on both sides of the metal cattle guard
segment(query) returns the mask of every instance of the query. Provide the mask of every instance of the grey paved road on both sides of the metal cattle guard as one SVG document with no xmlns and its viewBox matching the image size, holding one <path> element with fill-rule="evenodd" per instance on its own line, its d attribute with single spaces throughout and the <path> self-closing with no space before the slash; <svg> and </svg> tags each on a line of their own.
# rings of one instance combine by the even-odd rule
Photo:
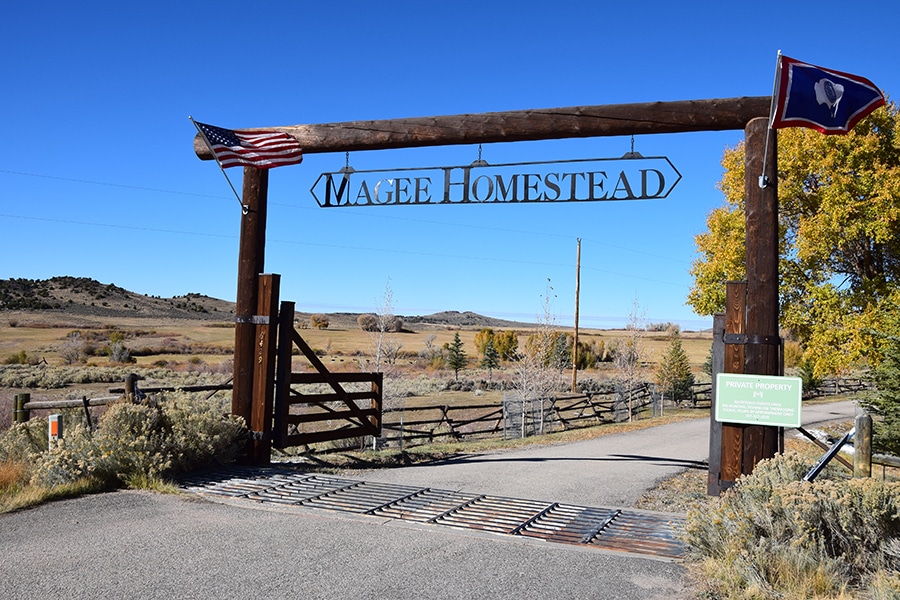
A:
<svg viewBox="0 0 900 600">
<path fill-rule="evenodd" d="M 809 411 L 807 417 L 828 420 L 837 415 L 827 413 L 838 411 L 853 414 L 852 406 L 828 405 L 820 411 L 824 417 Z M 625 505 L 647 481 L 705 458 L 704 423 L 367 477 Z M 0 597 L 10 599 L 689 597 L 683 568 L 668 561 L 374 517 L 250 509 L 133 491 L 0 515 L 0 548 Z"/>
</svg>

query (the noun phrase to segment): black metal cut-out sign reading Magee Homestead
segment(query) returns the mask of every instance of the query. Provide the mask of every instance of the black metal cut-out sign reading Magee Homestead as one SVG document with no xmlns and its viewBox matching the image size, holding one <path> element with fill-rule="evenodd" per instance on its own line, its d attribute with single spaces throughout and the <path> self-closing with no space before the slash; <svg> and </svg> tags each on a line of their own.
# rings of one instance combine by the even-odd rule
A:
<svg viewBox="0 0 900 600">
<path fill-rule="evenodd" d="M 665 198 L 681 180 L 666 157 L 590 158 L 322 173 L 319 206 L 594 202 Z"/>
</svg>

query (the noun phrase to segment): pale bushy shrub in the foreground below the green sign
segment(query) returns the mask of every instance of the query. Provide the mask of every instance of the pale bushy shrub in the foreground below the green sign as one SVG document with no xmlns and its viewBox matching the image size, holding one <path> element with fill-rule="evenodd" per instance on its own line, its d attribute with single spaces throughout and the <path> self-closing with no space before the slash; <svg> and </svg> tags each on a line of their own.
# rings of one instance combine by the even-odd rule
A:
<svg viewBox="0 0 900 600">
<path fill-rule="evenodd" d="M 721 498 L 688 513 L 685 540 L 715 597 L 824 597 L 874 581 L 890 587 L 876 575 L 900 568 L 900 483 L 800 481 L 809 466 L 796 455 L 761 461 Z"/>
</svg>

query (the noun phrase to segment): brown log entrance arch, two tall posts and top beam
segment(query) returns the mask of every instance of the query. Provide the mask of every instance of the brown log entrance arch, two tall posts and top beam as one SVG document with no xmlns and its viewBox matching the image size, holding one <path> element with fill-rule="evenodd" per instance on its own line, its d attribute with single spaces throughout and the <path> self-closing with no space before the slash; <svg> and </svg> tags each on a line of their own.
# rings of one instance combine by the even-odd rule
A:
<svg viewBox="0 0 900 600">
<path fill-rule="evenodd" d="M 425 146 L 482 144 L 564 138 L 624 136 L 651 133 L 725 131 L 744 129 L 747 218 L 746 291 L 729 305 L 740 305 L 733 314 L 724 369 L 732 373 L 777 375 L 778 346 L 778 189 L 774 141 L 768 145 L 771 97 L 688 100 L 642 104 L 575 106 L 415 117 L 377 121 L 351 121 L 318 125 L 274 127 L 296 138 L 307 154 L 383 150 Z M 273 129 L 272 127 L 267 129 Z M 252 131 L 252 130 L 251 130 Z M 771 132 L 772 139 L 775 132 Z M 203 160 L 213 155 L 199 134 L 194 150 Z M 766 160 L 764 160 L 766 158 Z M 761 188 L 764 175 L 769 185 Z M 244 168 L 243 203 L 235 317 L 235 364 L 232 412 L 248 423 L 254 405 L 264 402 L 254 392 L 256 325 L 259 276 L 265 272 L 265 228 L 268 171 Z M 738 314 L 740 313 L 740 314 Z M 264 395 L 263 395 L 264 396 Z M 257 414 L 264 411 L 257 410 Z M 266 417 L 268 418 L 268 417 Z M 774 456 L 778 430 L 774 427 L 722 424 L 711 419 L 710 492 L 718 493 L 756 463 Z M 264 444 L 262 445 L 265 446 Z M 253 451 L 254 462 L 268 461 L 267 450 Z"/>
</svg>

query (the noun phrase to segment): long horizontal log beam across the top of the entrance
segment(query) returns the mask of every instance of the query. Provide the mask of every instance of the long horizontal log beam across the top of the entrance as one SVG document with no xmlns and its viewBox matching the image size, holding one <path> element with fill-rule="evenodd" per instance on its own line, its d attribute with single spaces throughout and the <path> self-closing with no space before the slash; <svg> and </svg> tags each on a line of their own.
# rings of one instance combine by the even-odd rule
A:
<svg viewBox="0 0 900 600">
<path fill-rule="evenodd" d="M 531 110 L 268 127 L 294 137 L 303 152 L 352 152 L 647 133 L 743 129 L 769 114 L 771 98 L 607 104 Z M 244 131 L 253 131 L 246 129 Z M 194 152 L 212 154 L 199 134 Z"/>
</svg>

